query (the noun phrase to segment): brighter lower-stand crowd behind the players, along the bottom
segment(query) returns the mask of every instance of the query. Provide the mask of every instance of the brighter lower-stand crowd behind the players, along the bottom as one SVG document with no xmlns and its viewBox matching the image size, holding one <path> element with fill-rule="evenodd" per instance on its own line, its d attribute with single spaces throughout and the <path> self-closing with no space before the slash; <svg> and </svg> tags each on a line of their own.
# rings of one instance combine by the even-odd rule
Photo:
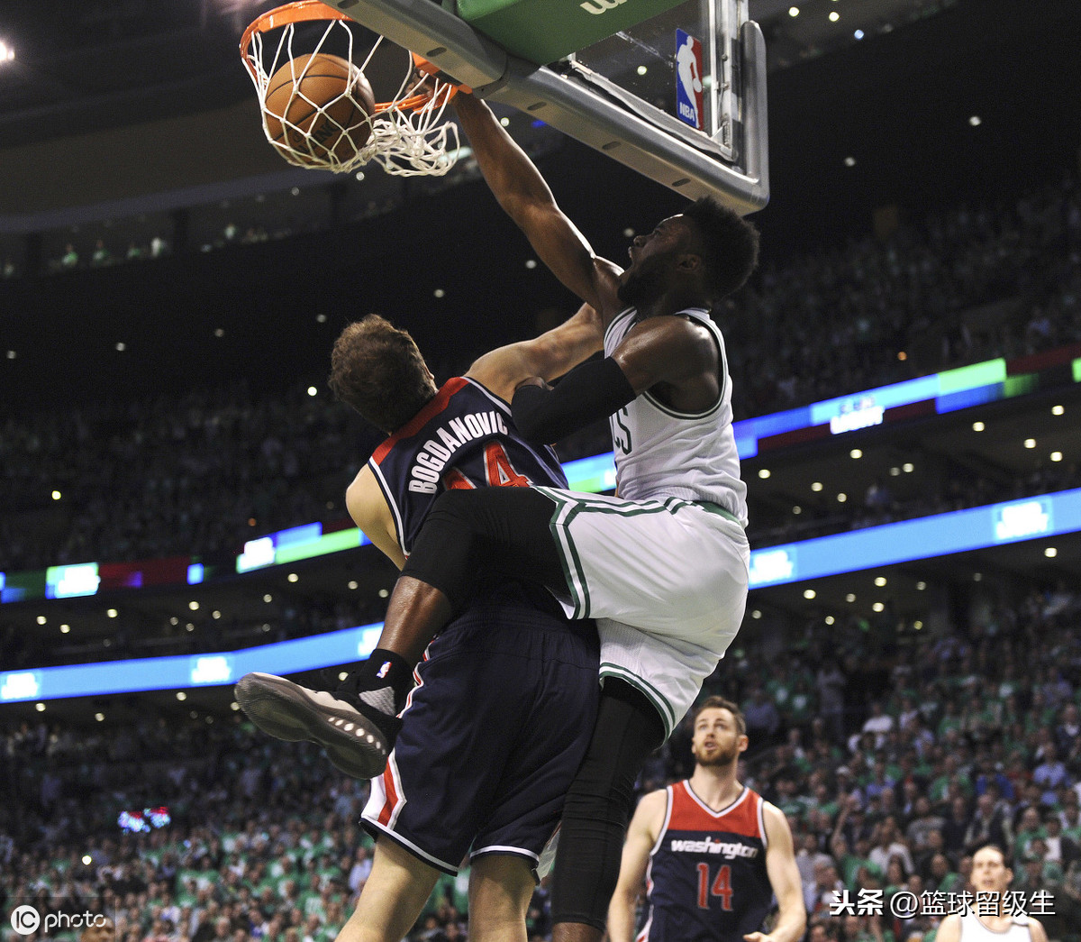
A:
<svg viewBox="0 0 1081 942">
<path fill-rule="evenodd" d="M 907 640 L 856 620 L 745 628 L 707 681 L 743 706 L 740 778 L 788 817 L 815 942 L 933 942 L 988 841 L 1049 937 L 1081 940 L 1081 594 L 974 611 Z M 690 737 L 684 722 L 640 794 L 690 774 Z M 6 728 L 0 781 L 0 902 L 104 907 L 123 942 L 331 942 L 371 867 L 368 784 L 239 714 Z M 118 825 L 160 806 L 160 828 Z M 410 940 L 466 938 L 467 883 L 467 866 L 442 878 Z M 881 915 L 831 914 L 843 890 L 880 890 Z M 543 884 L 531 940 L 548 918 Z"/>
</svg>

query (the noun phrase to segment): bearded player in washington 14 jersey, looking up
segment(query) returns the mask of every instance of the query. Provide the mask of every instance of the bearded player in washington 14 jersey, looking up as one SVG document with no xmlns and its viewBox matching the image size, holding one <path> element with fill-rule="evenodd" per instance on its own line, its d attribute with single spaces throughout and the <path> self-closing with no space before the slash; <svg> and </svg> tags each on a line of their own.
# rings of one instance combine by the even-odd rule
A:
<svg viewBox="0 0 1081 942">
<path fill-rule="evenodd" d="M 646 795 L 627 832 L 609 907 L 611 942 L 797 942 L 806 926 L 784 813 L 736 781 L 746 725 L 710 696 L 695 713 L 690 779 Z M 635 936 L 645 880 L 649 915 Z M 777 901 L 769 933 L 762 923 Z"/>
</svg>

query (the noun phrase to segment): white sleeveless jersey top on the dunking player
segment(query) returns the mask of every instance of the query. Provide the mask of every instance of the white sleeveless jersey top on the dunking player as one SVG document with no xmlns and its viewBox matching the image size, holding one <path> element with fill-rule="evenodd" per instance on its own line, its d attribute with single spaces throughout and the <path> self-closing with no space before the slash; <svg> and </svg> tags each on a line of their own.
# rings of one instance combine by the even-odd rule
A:
<svg viewBox="0 0 1081 942">
<path fill-rule="evenodd" d="M 623 342 L 638 311 L 627 308 L 604 333 L 604 354 Z M 747 486 L 739 478 L 739 455 L 732 430 L 732 381 L 724 339 L 704 307 L 679 311 L 700 323 L 717 341 L 720 395 L 703 412 L 677 412 L 649 390 L 609 419 L 615 446 L 616 493 L 626 500 L 681 497 L 723 507 L 747 523 Z"/>
</svg>

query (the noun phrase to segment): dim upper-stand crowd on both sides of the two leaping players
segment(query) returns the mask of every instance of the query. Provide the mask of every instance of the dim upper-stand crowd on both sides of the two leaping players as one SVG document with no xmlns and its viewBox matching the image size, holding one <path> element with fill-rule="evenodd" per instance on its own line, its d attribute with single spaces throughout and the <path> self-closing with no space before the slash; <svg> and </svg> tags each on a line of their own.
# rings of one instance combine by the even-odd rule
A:
<svg viewBox="0 0 1081 942">
<path fill-rule="evenodd" d="M 766 263 L 730 307 L 723 326 L 737 415 L 1078 343 L 1081 193 L 1067 178 L 1013 203 L 944 212 L 884 240 Z M 0 570 L 239 553 L 255 535 L 339 520 L 350 469 L 376 438 L 325 390 L 309 397 L 303 388 L 277 399 L 237 386 L 9 413 L 0 425 Z M 560 452 L 570 459 L 610 447 L 600 423 Z M 1077 466 L 1043 478 L 993 487 L 959 479 L 952 487 L 961 493 L 937 495 L 931 507 L 877 500 L 864 517 L 1039 493 L 1059 479 L 1076 483 Z M 864 517 L 848 515 L 846 526 Z M 833 526 L 813 515 L 799 522 L 809 534 Z M 764 535 L 790 539 L 784 530 Z"/>
</svg>

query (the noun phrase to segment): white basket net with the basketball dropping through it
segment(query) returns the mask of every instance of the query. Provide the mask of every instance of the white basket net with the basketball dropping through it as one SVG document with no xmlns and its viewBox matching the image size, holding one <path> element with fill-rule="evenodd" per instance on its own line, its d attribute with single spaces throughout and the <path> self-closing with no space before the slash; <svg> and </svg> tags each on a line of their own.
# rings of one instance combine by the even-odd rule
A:
<svg viewBox="0 0 1081 942">
<path fill-rule="evenodd" d="M 403 57 L 405 76 L 393 97 L 373 109 L 364 70 L 383 37 L 376 37 L 358 66 L 356 37 L 346 22 L 311 15 L 301 22 L 325 23 L 322 35 L 315 42 L 310 36 L 298 36 L 297 21 L 290 19 L 288 11 L 311 5 L 289 4 L 265 14 L 249 28 L 250 38 L 241 48 L 258 94 L 263 131 L 273 148 L 296 167 L 334 173 L 349 173 L 372 161 L 396 176 L 446 173 L 459 149 L 457 125 L 444 115 L 454 87 L 419 71 L 410 53 L 392 47 Z M 279 12 L 285 15 L 276 19 Z M 280 30 L 276 42 L 265 38 L 271 30 Z M 343 44 L 344 57 L 329 52 L 342 50 Z M 326 62 L 317 56 L 344 59 L 348 69 L 342 76 L 344 91 L 330 101 L 316 101 L 305 91 L 310 88 L 307 79 L 319 78 L 312 75 L 312 64 Z"/>
</svg>

